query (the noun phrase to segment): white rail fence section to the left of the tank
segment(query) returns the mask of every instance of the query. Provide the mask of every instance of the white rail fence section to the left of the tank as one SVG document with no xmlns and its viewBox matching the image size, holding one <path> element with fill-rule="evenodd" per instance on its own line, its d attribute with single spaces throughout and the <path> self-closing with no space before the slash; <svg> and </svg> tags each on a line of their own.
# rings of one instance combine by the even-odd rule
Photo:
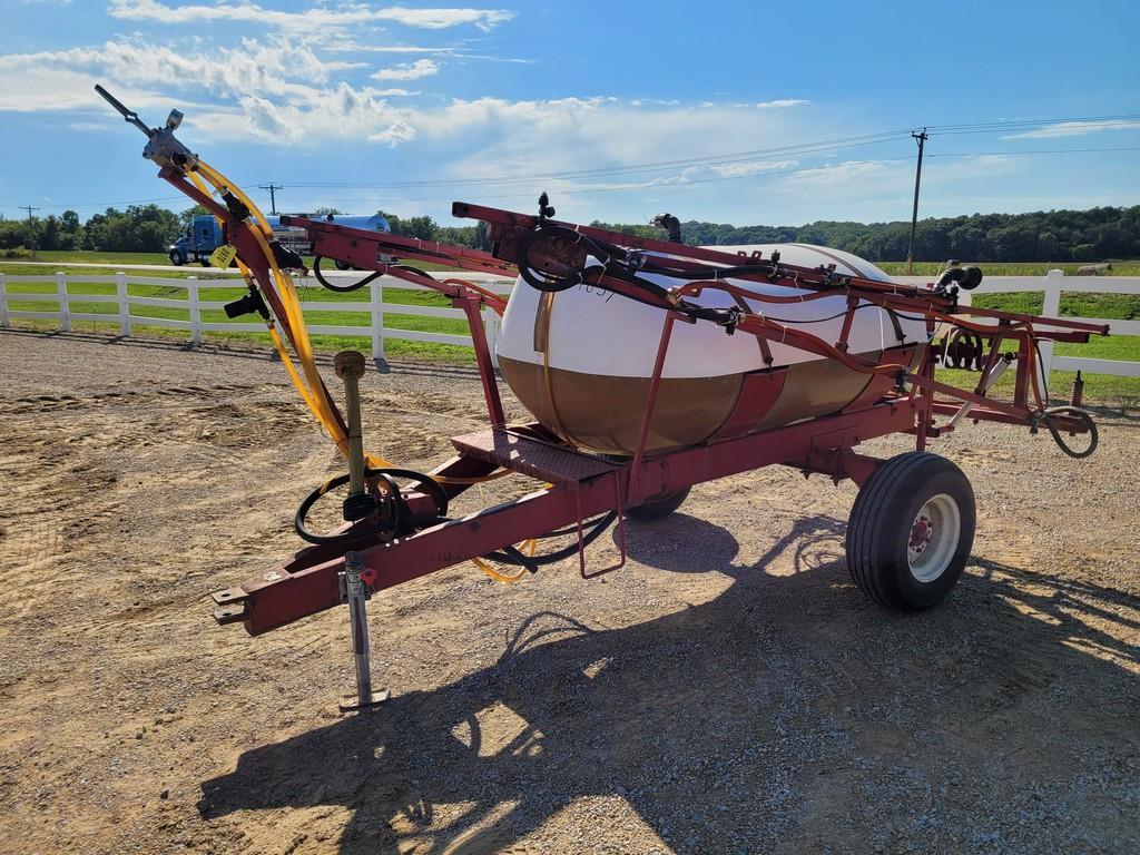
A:
<svg viewBox="0 0 1140 855">
<path fill-rule="evenodd" d="M 336 278 L 359 278 L 365 274 L 355 272 L 347 277 Z M 487 278 L 482 276 L 466 275 L 472 280 L 480 279 L 482 287 L 499 294 L 510 294 L 513 282 L 508 279 Z M 334 278 L 334 277 L 329 277 Z M 9 291 L 9 285 L 15 284 L 43 284 L 54 285 L 51 290 L 27 292 Z M 78 294 L 73 293 L 68 285 L 72 283 L 85 284 L 113 284 L 113 294 Z M 298 279 L 299 286 L 320 287 L 315 279 Z M 154 285 L 168 288 L 182 288 L 186 298 L 161 298 L 139 296 L 129 292 L 130 285 Z M 128 336 L 135 326 L 160 326 L 173 329 L 186 329 L 189 332 L 190 341 L 195 344 L 202 343 L 203 333 L 264 333 L 263 323 L 249 321 L 207 321 L 202 319 L 203 311 L 222 310 L 229 300 L 203 299 L 203 292 L 209 298 L 209 292 L 218 288 L 244 288 L 245 284 L 238 278 L 211 278 L 198 279 L 194 276 L 187 278 L 173 277 L 150 277 L 150 276 L 127 276 L 123 272 L 113 276 L 87 276 L 66 275 L 63 272 L 54 276 L 5 276 L 0 274 L 0 327 L 10 326 L 13 318 L 33 318 L 56 320 L 59 328 L 70 332 L 74 320 L 96 320 L 104 323 L 117 323 L 119 334 Z M 366 300 L 323 300 L 302 301 L 301 309 L 306 315 L 310 333 L 328 335 L 351 335 L 372 340 L 372 353 L 376 358 L 384 356 L 384 340 L 400 339 L 402 341 L 433 342 L 437 344 L 457 344 L 459 347 L 472 347 L 470 335 L 455 335 L 450 333 L 425 333 L 414 329 L 399 329 L 385 326 L 385 315 L 410 315 L 424 318 L 448 318 L 455 320 L 466 320 L 466 315 L 462 309 L 451 309 L 435 306 L 416 306 L 406 303 L 385 303 L 384 292 L 386 290 L 412 290 L 429 291 L 421 285 L 415 285 L 394 276 L 383 276 L 373 280 L 360 290 L 359 294 Z M 303 296 L 303 294 L 302 294 Z M 54 302 L 54 311 L 14 309 L 13 302 Z M 83 311 L 84 304 L 101 303 L 113 304 L 115 312 Z M 76 308 L 78 307 L 78 308 Z M 188 319 L 160 318 L 148 315 L 136 315 L 135 307 L 154 307 L 161 309 L 181 309 L 188 312 Z M 367 326 L 333 326 L 319 321 L 321 312 L 360 312 L 368 316 Z M 495 352 L 495 341 L 498 336 L 498 316 L 489 308 L 483 310 L 483 329 L 487 340 L 491 345 L 491 353 Z"/>
</svg>

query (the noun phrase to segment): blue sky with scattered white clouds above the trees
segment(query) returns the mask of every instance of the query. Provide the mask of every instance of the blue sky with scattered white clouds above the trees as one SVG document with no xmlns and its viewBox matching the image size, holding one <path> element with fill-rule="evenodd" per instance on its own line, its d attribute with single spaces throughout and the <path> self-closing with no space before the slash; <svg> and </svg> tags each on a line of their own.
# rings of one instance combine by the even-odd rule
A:
<svg viewBox="0 0 1140 855">
<path fill-rule="evenodd" d="M 5 9 L 6 217 L 186 206 L 95 82 L 150 124 L 182 109 L 192 149 L 286 185 L 286 211 L 453 222 L 453 199 L 530 211 L 546 189 L 585 221 L 907 219 L 922 125 L 923 217 L 1140 204 L 1134 2 Z M 1023 124 L 950 128 L 997 122 Z"/>
</svg>

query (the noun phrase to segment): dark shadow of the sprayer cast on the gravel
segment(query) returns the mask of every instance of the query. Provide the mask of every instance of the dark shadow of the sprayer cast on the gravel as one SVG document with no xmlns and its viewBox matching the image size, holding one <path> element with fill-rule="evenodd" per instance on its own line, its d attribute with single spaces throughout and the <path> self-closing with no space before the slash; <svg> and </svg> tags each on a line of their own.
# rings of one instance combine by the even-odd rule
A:
<svg viewBox="0 0 1140 855">
<path fill-rule="evenodd" d="M 801 520 L 749 567 L 728 531 L 667 524 L 629 526 L 630 556 L 723 570 L 724 593 L 621 629 L 520 617 L 490 668 L 247 751 L 203 783 L 201 814 L 343 805 L 343 853 L 497 852 L 592 795 L 625 799 L 677 852 L 1140 839 L 1121 825 L 1140 648 L 1082 620 L 1135 628 L 1134 596 L 975 559 L 943 606 L 898 617 L 850 584 L 838 520 Z M 779 556 L 793 572 L 767 572 Z M 514 728 L 488 732 L 504 710 Z M 1073 734 L 1061 756 L 1042 738 L 1056 728 Z M 1060 799 L 1080 828 L 1054 822 Z M 608 821 L 585 822 L 583 850 Z"/>
</svg>

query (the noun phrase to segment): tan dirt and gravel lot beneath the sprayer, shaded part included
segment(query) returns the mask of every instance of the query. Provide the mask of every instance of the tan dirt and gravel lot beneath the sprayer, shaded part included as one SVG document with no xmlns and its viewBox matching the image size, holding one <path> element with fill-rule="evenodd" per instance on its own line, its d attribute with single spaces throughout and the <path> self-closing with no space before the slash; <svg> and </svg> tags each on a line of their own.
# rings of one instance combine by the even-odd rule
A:
<svg viewBox="0 0 1140 855">
<path fill-rule="evenodd" d="M 1140 850 L 1134 416 L 1083 462 L 939 441 L 979 528 L 930 612 L 850 583 L 852 484 L 773 467 L 630 523 L 603 580 L 466 565 L 376 596 L 393 698 L 342 717 L 342 610 L 211 618 L 340 471 L 279 365 L 6 333 L 0 381 L 2 853 Z M 367 445 L 408 465 L 481 426 L 464 369 L 364 391 Z"/>
</svg>

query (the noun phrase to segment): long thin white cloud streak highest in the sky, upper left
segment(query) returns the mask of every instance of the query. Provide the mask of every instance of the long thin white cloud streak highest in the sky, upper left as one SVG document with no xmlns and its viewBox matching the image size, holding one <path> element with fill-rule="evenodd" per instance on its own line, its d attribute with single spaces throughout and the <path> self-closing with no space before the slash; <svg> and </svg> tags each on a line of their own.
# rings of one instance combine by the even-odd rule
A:
<svg viewBox="0 0 1140 855">
<path fill-rule="evenodd" d="M 343 3 L 336 7 L 314 6 L 303 11 L 266 9 L 252 2 L 205 6 L 187 3 L 171 6 L 157 0 L 111 0 L 108 13 L 124 21 L 147 21 L 185 25 L 190 22 L 238 21 L 262 24 L 293 32 L 311 32 L 315 27 L 344 27 L 360 24 L 393 23 L 423 30 L 473 25 L 484 32 L 514 17 L 504 9 L 409 9 L 404 6 L 373 8 L 366 3 Z"/>
</svg>

